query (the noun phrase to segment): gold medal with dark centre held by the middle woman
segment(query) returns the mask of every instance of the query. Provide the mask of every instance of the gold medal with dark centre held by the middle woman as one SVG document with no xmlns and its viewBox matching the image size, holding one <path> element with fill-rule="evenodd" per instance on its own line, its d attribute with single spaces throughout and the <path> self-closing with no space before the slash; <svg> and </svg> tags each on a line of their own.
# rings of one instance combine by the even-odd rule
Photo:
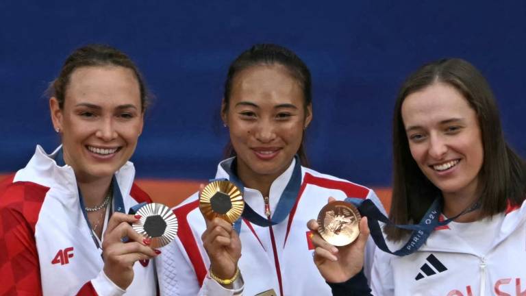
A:
<svg viewBox="0 0 526 296">
<path fill-rule="evenodd" d="M 206 219 L 219 217 L 228 223 L 234 223 L 243 212 L 245 201 L 241 191 L 229 181 L 209 183 L 199 196 L 199 209 Z"/>
</svg>

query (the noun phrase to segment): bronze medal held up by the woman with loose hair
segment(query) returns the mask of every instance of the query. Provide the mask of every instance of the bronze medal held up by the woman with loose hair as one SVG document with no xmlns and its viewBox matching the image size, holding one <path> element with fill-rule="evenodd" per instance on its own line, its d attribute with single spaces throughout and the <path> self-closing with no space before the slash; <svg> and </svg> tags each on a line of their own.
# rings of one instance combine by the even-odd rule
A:
<svg viewBox="0 0 526 296">
<path fill-rule="evenodd" d="M 318 214 L 318 232 L 331 245 L 349 245 L 360 234 L 360 219 L 360 212 L 353 204 L 333 201 Z"/>
</svg>

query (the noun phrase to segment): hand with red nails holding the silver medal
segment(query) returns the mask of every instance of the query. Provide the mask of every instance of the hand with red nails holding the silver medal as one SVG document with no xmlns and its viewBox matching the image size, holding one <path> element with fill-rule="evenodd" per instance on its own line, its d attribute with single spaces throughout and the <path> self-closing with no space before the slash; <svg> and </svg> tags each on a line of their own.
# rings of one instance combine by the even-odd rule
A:
<svg viewBox="0 0 526 296">
<path fill-rule="evenodd" d="M 104 273 L 114 284 L 125 290 L 134 280 L 134 263 L 160 254 L 149 247 L 149 240 L 138 234 L 131 223 L 140 216 L 114 212 L 104 232 L 102 243 Z M 128 238 L 123 242 L 123 238 Z"/>
</svg>

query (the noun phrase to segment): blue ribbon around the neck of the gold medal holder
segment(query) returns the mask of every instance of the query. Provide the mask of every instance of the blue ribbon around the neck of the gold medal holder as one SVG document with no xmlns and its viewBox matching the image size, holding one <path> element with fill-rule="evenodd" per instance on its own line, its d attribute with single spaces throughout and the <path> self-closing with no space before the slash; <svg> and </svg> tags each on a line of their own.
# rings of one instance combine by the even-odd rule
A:
<svg viewBox="0 0 526 296">
<path fill-rule="evenodd" d="M 243 194 L 245 191 L 245 186 L 243 186 L 241 180 L 239 180 L 238 176 L 235 173 L 236 172 L 236 158 L 233 158 L 225 162 L 223 169 L 227 171 L 229 175 L 229 181 L 234 183 L 234 185 L 236 185 L 239 188 L 241 194 Z M 272 226 L 272 225 L 281 223 L 281 221 L 284 221 L 286 217 L 288 216 L 288 214 L 290 214 L 290 211 L 292 210 L 292 207 L 294 206 L 295 201 L 297 199 L 300 187 L 301 187 L 301 163 L 299 161 L 299 157 L 295 156 L 295 165 L 294 165 L 294 170 L 292 171 L 292 176 L 290 177 L 288 184 L 283 190 L 283 193 L 281 193 L 281 197 L 279 197 L 279 201 L 277 202 L 276 209 L 274 213 L 272 214 L 271 219 L 262 217 L 260 214 L 255 212 L 255 210 L 253 210 L 249 206 L 249 204 L 247 204 L 247 202 L 245 202 L 245 208 L 243 210 L 243 213 L 241 214 L 241 217 L 261 227 L 268 227 L 268 226 Z M 234 222 L 234 229 L 239 233 L 240 227 L 241 227 L 241 219 L 238 219 L 236 222 Z"/>
</svg>

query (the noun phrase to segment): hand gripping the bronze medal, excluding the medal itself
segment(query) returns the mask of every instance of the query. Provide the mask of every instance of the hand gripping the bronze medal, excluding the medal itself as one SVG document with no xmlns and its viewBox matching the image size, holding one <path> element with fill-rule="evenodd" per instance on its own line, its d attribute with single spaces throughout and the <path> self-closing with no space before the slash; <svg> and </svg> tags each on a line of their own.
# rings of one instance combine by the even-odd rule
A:
<svg viewBox="0 0 526 296">
<path fill-rule="evenodd" d="M 329 198 L 329 202 L 334 201 Z M 356 240 L 346 246 L 335 247 L 325 241 L 318 233 L 318 223 L 312 219 L 307 223 L 307 227 L 312 231 L 312 244 L 316 248 L 314 251 L 314 264 L 321 273 L 321 276 L 331 283 L 346 282 L 351 277 L 358 274 L 364 267 L 364 253 L 369 227 L 367 218 L 360 220 L 360 234 Z"/>
</svg>

